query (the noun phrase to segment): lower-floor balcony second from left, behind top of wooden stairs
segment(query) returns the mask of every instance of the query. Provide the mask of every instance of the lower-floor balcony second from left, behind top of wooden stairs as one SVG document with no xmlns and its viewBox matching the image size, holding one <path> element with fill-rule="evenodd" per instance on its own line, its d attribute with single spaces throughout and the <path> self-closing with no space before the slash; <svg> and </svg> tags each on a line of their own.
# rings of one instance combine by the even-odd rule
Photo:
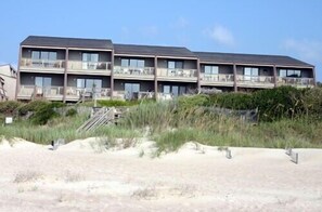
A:
<svg viewBox="0 0 322 212">
<path fill-rule="evenodd" d="M 111 89 L 107 88 L 76 88 L 67 87 L 66 90 L 66 101 L 79 101 L 79 100 L 110 100 L 111 98 Z"/>
</svg>

